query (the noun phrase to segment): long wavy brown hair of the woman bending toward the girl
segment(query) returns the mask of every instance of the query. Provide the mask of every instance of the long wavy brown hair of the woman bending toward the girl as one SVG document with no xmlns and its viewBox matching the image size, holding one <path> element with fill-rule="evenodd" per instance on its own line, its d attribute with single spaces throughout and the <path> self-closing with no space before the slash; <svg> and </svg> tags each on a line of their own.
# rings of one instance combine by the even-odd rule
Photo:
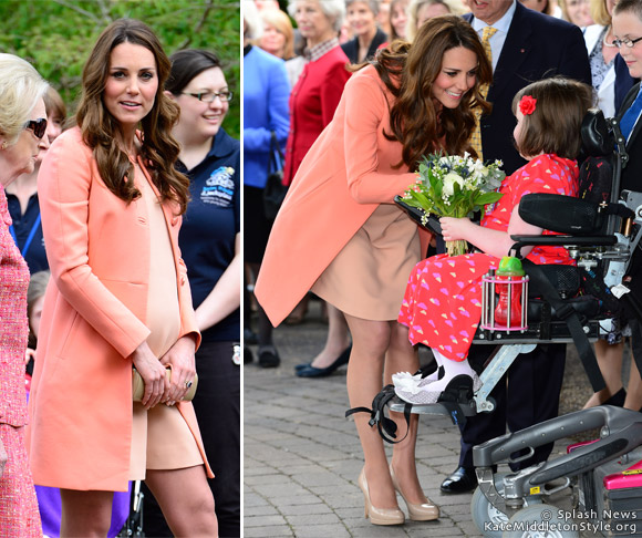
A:
<svg viewBox="0 0 642 538">
<path fill-rule="evenodd" d="M 438 110 L 433 96 L 433 84 L 441 70 L 444 53 L 463 46 L 477 55 L 475 85 L 464 94 L 456 108 Z M 443 149 L 449 155 L 465 151 L 476 156 L 469 144 L 475 127 L 474 108 L 490 111 L 479 92 L 480 84 L 489 84 L 493 68 L 477 32 L 456 15 L 435 17 L 426 21 L 411 43 L 395 41 L 379 52 L 373 64 L 379 76 L 395 97 L 390 110 L 392 133 L 390 141 L 403 145 L 402 163 L 415 169 L 422 155 Z M 360 65 L 358 69 L 366 64 Z"/>
</svg>

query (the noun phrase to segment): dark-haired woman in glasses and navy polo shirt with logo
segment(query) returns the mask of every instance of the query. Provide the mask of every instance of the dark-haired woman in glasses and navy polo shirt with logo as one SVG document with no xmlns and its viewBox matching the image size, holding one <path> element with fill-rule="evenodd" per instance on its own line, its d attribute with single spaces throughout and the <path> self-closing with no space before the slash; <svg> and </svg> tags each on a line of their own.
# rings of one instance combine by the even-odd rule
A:
<svg viewBox="0 0 642 538">
<path fill-rule="evenodd" d="M 170 60 L 165 89 L 180 107 L 174 127 L 177 169 L 190 180 L 178 242 L 203 337 L 194 408 L 216 476 L 208 482 L 219 534 L 235 537 L 240 536 L 240 368 L 232 360 L 240 341 L 240 144 L 221 126 L 232 92 L 218 56 L 185 50 Z M 173 536 L 147 498 L 144 513 L 148 536 Z"/>
</svg>

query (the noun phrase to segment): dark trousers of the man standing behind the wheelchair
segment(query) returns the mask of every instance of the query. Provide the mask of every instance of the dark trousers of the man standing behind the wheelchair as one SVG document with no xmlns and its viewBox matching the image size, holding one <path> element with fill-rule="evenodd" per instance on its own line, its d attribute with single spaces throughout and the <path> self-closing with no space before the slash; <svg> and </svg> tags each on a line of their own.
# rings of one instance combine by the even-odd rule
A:
<svg viewBox="0 0 642 538">
<path fill-rule="evenodd" d="M 497 404 L 495 411 L 468 418 L 460 428 L 462 467 L 473 468 L 473 446 L 504 435 L 507 424 L 510 432 L 517 432 L 558 415 L 566 349 L 566 344 L 542 344 L 517 356 L 490 392 Z M 468 354 L 473 368 L 478 370 L 493 350 L 493 345 L 473 345 Z M 511 468 L 517 470 L 545 462 L 552 447 L 549 443 L 536 448 L 531 457 L 511 464 Z"/>
</svg>

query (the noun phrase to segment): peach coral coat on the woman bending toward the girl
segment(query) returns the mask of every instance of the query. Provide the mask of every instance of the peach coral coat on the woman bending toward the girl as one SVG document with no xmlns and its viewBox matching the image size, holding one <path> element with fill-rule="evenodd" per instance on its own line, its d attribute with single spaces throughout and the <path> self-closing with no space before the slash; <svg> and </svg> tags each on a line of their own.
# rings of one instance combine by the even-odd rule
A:
<svg viewBox="0 0 642 538">
<path fill-rule="evenodd" d="M 416 174 L 391 142 L 390 94 L 376 71 L 354 73 L 334 118 L 310 148 L 277 216 L 255 288 L 276 327 L 363 226 L 380 204 L 393 204 Z M 401 210 L 401 209 L 400 209 Z M 429 235 L 420 230 L 422 252 Z M 400 298 L 401 307 L 401 298 Z"/>
</svg>

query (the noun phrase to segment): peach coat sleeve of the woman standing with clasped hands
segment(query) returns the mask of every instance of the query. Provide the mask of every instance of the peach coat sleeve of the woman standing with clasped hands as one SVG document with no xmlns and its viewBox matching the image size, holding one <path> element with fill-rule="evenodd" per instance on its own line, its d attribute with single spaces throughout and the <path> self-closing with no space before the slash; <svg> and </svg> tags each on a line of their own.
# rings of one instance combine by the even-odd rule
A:
<svg viewBox="0 0 642 538">
<path fill-rule="evenodd" d="M 91 152 L 73 136 L 56 142 L 38 176 L 52 279 L 71 307 L 126 358 L 147 339 L 149 329 L 100 281 L 89 265 Z"/>
</svg>

